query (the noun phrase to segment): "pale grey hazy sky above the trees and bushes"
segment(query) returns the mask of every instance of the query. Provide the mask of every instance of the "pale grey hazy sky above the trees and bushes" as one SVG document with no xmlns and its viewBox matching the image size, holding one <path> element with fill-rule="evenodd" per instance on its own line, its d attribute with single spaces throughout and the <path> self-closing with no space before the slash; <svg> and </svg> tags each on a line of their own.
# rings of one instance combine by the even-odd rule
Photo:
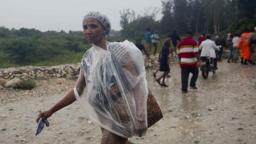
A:
<svg viewBox="0 0 256 144">
<path fill-rule="evenodd" d="M 42 32 L 82 31 L 83 16 L 99 11 L 110 19 L 112 29 L 120 30 L 120 13 L 132 9 L 136 14 L 148 7 L 161 8 L 160 0 L 0 0 L 0 26 L 36 28 Z M 156 19 L 161 19 L 159 13 Z"/>
</svg>

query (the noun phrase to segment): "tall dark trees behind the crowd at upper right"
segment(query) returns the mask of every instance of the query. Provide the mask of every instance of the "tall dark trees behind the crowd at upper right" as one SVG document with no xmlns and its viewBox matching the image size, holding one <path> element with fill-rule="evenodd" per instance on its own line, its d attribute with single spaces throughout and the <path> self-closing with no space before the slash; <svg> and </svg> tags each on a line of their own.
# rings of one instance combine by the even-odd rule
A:
<svg viewBox="0 0 256 144">
<path fill-rule="evenodd" d="M 231 31 L 242 33 L 256 26 L 255 0 L 162 0 L 162 8 L 150 8 L 144 14 L 130 9 L 120 11 L 121 34 L 132 39 L 143 38 L 147 27 L 168 35 L 173 30 L 184 34 Z M 153 9 L 153 10 L 152 10 Z M 162 13 L 160 20 L 156 14 Z"/>
</svg>

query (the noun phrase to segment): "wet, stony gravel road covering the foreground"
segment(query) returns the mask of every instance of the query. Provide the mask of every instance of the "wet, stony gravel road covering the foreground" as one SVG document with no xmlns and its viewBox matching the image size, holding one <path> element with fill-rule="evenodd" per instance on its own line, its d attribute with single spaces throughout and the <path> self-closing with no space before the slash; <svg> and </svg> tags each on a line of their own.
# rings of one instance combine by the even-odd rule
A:
<svg viewBox="0 0 256 144">
<path fill-rule="evenodd" d="M 255 144 L 256 67 L 226 61 L 218 67 L 208 79 L 199 72 L 198 90 L 187 94 L 181 94 L 178 65 L 171 65 L 167 88 L 156 83 L 152 70 L 147 71 L 149 88 L 164 118 L 150 127 L 146 136 L 130 140 L 139 144 Z M 76 80 L 36 82 L 33 90 L 0 90 L 0 143 L 100 144 L 100 128 L 77 102 L 53 114 L 48 119 L 50 127 L 35 136 L 38 113 L 64 97 Z"/>
</svg>

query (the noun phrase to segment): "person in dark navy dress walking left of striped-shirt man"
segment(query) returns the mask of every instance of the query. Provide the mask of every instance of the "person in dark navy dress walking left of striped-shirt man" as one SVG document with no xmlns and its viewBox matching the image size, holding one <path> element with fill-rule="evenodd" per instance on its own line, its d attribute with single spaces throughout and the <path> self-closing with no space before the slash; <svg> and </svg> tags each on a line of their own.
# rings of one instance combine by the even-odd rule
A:
<svg viewBox="0 0 256 144">
<path fill-rule="evenodd" d="M 169 55 L 169 47 L 171 45 L 171 39 L 165 39 L 165 44 L 162 47 L 161 51 L 161 57 L 160 57 L 160 71 L 164 72 L 162 76 L 155 79 L 159 85 L 168 87 L 168 85 L 165 84 L 165 77 L 170 72 L 170 67 L 168 65 L 168 55 Z M 163 78 L 162 83 L 160 83 L 161 78 Z"/>
</svg>

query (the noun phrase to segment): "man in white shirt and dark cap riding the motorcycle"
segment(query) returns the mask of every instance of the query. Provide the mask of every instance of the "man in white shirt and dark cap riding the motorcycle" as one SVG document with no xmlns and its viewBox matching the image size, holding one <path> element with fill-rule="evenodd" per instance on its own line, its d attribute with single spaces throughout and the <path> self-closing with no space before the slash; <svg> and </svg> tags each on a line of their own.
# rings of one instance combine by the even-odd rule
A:
<svg viewBox="0 0 256 144">
<path fill-rule="evenodd" d="M 198 47 L 201 51 L 200 57 L 211 57 L 214 60 L 214 68 L 217 69 L 217 59 L 216 59 L 216 51 L 219 51 L 219 48 L 215 44 L 214 41 L 211 40 L 211 34 L 206 35 L 206 40 L 203 41 Z"/>
</svg>

